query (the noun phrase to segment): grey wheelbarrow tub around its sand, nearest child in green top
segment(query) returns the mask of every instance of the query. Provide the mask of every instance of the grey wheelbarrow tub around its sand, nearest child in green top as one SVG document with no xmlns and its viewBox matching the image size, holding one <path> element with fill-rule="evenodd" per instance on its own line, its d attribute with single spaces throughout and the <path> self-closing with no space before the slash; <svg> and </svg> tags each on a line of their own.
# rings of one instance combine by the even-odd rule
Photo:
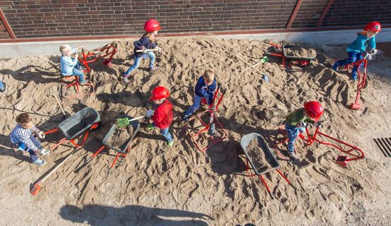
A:
<svg viewBox="0 0 391 226">
<path fill-rule="evenodd" d="M 251 141 L 253 141 L 253 139 L 258 140 L 258 146 L 261 148 L 261 150 L 263 150 L 263 153 L 265 154 L 265 158 L 266 158 L 267 162 L 269 162 L 269 164 L 270 164 L 270 167 L 267 167 L 267 169 L 265 169 L 263 171 L 260 169 L 257 169 L 255 167 L 253 160 L 251 160 L 251 157 L 247 151 L 248 144 Z M 265 138 L 263 138 L 263 136 L 261 136 L 260 134 L 249 133 L 249 134 L 246 134 L 245 136 L 242 136 L 241 141 L 240 141 L 240 145 L 241 145 L 241 148 L 243 149 L 243 153 L 246 155 L 248 163 L 251 165 L 251 168 L 254 170 L 255 174 L 260 176 L 262 174 L 265 174 L 267 172 L 270 172 L 274 169 L 279 168 L 279 162 L 277 161 L 277 159 L 275 158 L 275 155 L 273 155 L 272 151 L 270 150 L 269 146 L 267 145 Z"/>
</svg>

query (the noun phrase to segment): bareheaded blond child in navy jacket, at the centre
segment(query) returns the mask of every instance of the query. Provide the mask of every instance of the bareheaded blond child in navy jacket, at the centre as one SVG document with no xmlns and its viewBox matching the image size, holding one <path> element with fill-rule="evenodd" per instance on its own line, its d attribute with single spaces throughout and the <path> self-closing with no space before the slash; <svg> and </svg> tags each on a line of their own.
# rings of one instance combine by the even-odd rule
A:
<svg viewBox="0 0 391 226">
<path fill-rule="evenodd" d="M 211 105 L 216 89 L 215 73 L 212 70 L 205 71 L 204 75 L 198 78 L 194 88 L 194 102 L 183 114 L 182 119 L 185 121 L 191 117 L 201 104 L 202 98 L 205 98 L 207 105 Z"/>
</svg>

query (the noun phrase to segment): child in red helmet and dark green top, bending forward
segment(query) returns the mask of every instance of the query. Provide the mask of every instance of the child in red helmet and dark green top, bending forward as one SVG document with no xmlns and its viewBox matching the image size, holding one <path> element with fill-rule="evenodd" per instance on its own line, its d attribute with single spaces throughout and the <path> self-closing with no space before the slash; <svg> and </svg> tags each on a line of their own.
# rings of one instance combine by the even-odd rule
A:
<svg viewBox="0 0 391 226">
<path fill-rule="evenodd" d="M 285 120 L 285 130 L 289 138 L 288 141 L 288 154 L 291 158 L 296 159 L 294 153 L 294 141 L 296 141 L 299 133 L 305 131 L 306 124 L 314 123 L 318 121 L 320 116 L 325 112 L 322 105 L 319 102 L 311 101 L 304 103 L 304 107 L 296 109 L 287 116 Z"/>
</svg>

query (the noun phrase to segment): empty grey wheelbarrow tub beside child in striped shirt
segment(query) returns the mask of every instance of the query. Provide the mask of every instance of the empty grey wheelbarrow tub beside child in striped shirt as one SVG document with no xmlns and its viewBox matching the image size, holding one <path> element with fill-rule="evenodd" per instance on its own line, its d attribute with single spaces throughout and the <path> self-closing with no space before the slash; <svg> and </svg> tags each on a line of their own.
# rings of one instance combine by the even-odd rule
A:
<svg viewBox="0 0 391 226">
<path fill-rule="evenodd" d="M 71 140 L 90 129 L 98 121 L 100 121 L 99 113 L 92 107 L 85 107 L 62 121 L 59 124 L 59 130 L 66 139 Z"/>
</svg>

